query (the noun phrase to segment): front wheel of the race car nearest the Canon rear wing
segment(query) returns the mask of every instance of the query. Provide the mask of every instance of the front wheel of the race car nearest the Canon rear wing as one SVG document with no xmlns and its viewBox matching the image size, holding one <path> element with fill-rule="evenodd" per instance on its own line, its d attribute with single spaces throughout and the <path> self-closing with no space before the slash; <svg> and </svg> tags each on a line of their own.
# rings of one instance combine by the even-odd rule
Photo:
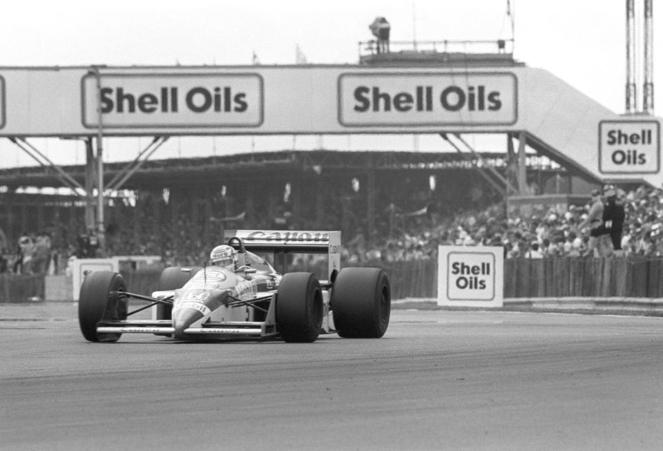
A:
<svg viewBox="0 0 663 451">
<path fill-rule="evenodd" d="M 285 274 L 276 294 L 276 325 L 289 343 L 311 343 L 323 324 L 323 292 L 311 273 Z"/>
</svg>

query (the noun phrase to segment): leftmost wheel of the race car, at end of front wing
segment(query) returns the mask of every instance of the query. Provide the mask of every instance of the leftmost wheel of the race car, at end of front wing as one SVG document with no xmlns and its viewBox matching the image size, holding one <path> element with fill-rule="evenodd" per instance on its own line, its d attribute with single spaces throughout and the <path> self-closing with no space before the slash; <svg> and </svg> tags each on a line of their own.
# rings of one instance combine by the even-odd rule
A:
<svg viewBox="0 0 663 451">
<path fill-rule="evenodd" d="M 97 334 L 99 321 L 126 319 L 127 300 L 122 291 L 126 291 L 122 274 L 95 271 L 86 276 L 78 299 L 78 323 L 86 340 L 113 342 L 122 336 Z"/>
</svg>

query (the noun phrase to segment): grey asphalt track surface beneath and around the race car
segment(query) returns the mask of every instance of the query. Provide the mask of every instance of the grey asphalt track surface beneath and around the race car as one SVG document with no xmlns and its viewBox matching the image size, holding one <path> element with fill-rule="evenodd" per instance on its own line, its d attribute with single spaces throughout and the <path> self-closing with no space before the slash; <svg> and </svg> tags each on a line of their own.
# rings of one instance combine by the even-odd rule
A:
<svg viewBox="0 0 663 451">
<path fill-rule="evenodd" d="M 0 305 L 1 450 L 660 450 L 663 318 L 394 310 L 379 340 L 87 343 Z"/>
</svg>

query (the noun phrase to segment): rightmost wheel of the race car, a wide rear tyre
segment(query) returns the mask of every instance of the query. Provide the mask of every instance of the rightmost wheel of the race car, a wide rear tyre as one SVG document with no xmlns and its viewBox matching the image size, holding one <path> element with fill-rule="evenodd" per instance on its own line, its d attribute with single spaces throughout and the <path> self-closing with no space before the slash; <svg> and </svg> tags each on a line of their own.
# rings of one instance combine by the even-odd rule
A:
<svg viewBox="0 0 663 451">
<path fill-rule="evenodd" d="M 380 338 L 392 308 L 389 278 L 380 268 L 343 268 L 334 280 L 334 327 L 344 338 Z"/>
</svg>

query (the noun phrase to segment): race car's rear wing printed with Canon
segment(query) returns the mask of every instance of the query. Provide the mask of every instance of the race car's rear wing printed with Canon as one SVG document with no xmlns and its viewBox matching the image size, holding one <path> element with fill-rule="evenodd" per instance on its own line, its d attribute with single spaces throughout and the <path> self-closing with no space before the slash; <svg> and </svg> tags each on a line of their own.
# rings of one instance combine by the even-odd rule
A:
<svg viewBox="0 0 663 451">
<path fill-rule="evenodd" d="M 242 240 L 247 251 L 273 252 L 275 263 L 285 253 L 323 253 L 329 256 L 328 276 L 340 271 L 340 231 L 227 230 L 224 242 L 233 236 Z"/>
</svg>

